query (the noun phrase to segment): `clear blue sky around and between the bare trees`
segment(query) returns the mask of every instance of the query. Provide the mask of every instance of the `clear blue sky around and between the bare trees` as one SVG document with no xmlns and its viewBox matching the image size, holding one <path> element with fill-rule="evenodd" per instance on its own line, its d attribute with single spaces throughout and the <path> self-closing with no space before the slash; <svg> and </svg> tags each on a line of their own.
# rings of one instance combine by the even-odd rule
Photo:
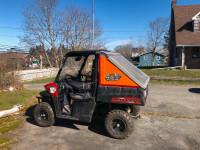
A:
<svg viewBox="0 0 200 150">
<path fill-rule="evenodd" d="M 138 39 L 145 44 L 147 25 L 157 17 L 170 17 L 172 0 L 94 0 L 95 18 L 101 21 L 102 38 L 106 47 L 130 41 L 138 45 Z M 60 6 L 78 5 L 92 13 L 92 0 L 61 0 Z M 178 0 L 178 5 L 200 4 L 200 0 Z M 26 0 L 0 0 L 0 51 L 11 47 L 26 49 L 18 37 L 23 23 L 22 12 Z"/>
</svg>

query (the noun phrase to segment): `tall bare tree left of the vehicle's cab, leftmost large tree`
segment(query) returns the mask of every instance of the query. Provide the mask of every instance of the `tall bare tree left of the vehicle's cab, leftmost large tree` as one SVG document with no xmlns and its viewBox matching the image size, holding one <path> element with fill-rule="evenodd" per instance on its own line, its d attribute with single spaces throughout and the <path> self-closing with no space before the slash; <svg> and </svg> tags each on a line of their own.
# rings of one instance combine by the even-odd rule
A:
<svg viewBox="0 0 200 150">
<path fill-rule="evenodd" d="M 58 67 L 59 63 L 56 45 L 59 43 L 62 24 L 59 12 L 56 10 L 58 2 L 59 0 L 34 0 L 33 3 L 28 3 L 23 11 L 24 36 L 20 37 L 29 46 L 42 45 L 51 67 L 53 64 Z M 47 49 L 51 50 L 54 62 L 50 61 Z"/>
</svg>

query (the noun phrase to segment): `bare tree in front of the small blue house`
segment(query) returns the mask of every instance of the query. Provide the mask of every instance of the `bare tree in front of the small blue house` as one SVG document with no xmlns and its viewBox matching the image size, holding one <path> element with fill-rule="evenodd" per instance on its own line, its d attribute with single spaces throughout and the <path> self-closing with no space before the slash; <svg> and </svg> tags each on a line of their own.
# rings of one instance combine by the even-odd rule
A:
<svg viewBox="0 0 200 150">
<path fill-rule="evenodd" d="M 152 66 L 154 66 L 155 51 L 164 42 L 164 34 L 169 29 L 169 18 L 158 17 L 149 21 L 147 30 L 147 47 L 152 51 Z"/>
</svg>

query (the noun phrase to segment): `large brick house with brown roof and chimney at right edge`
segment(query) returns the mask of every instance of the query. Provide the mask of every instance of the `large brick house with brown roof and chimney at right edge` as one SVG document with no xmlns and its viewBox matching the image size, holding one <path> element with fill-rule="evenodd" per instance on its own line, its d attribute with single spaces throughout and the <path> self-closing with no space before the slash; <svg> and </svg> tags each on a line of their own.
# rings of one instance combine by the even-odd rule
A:
<svg viewBox="0 0 200 150">
<path fill-rule="evenodd" d="M 200 69 L 200 5 L 172 0 L 169 66 Z"/>
</svg>

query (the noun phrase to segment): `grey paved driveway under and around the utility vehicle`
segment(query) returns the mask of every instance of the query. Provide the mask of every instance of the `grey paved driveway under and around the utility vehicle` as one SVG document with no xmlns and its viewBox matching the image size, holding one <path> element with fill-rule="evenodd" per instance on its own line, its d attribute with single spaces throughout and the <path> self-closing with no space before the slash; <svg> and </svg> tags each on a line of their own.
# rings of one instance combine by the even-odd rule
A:
<svg viewBox="0 0 200 150">
<path fill-rule="evenodd" d="M 43 89 L 42 85 L 31 87 Z M 28 118 L 18 135 L 14 150 L 199 150 L 200 87 L 150 85 L 141 118 L 134 121 L 134 131 L 125 140 L 108 137 L 103 121 L 97 119 L 90 124 L 59 120 L 53 127 L 42 128 Z"/>
</svg>

